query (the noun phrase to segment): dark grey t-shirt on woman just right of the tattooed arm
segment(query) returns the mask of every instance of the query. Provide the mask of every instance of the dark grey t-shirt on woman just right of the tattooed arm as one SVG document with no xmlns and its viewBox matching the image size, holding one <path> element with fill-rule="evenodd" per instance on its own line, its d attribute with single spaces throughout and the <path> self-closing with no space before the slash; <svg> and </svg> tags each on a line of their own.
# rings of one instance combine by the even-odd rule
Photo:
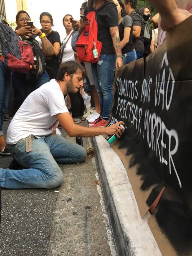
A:
<svg viewBox="0 0 192 256">
<path fill-rule="evenodd" d="M 131 27 L 131 32 L 129 36 L 129 42 L 121 49 L 122 54 L 128 53 L 133 50 L 133 20 L 129 15 L 124 16 L 123 20 L 119 24 L 119 37 L 122 41 L 124 38 L 124 28 Z"/>
</svg>

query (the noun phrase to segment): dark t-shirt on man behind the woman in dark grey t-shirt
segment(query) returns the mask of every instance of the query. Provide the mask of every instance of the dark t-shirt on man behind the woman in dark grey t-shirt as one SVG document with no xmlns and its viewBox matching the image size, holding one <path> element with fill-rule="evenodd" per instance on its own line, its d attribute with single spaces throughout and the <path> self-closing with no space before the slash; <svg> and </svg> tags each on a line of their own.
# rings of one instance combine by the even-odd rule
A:
<svg viewBox="0 0 192 256">
<path fill-rule="evenodd" d="M 133 25 L 134 26 L 140 26 L 141 27 L 141 35 L 139 38 L 133 38 L 133 46 L 136 51 L 139 51 L 140 53 L 144 53 L 144 40 L 143 40 L 143 26 L 144 26 L 144 19 L 141 17 L 139 13 L 136 13 L 135 10 L 132 11 L 130 14 Z"/>
</svg>

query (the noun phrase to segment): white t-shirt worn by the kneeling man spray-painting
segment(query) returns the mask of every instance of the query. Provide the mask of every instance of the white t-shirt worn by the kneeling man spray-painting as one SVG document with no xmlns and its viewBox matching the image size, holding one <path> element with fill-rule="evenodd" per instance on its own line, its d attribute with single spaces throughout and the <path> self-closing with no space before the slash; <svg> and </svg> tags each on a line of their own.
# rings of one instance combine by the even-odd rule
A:
<svg viewBox="0 0 192 256">
<path fill-rule="evenodd" d="M 52 79 L 29 94 L 20 106 L 8 127 L 7 143 L 16 144 L 30 134 L 52 134 L 58 124 L 56 115 L 60 113 L 68 113 L 68 109 L 59 84 Z"/>
</svg>

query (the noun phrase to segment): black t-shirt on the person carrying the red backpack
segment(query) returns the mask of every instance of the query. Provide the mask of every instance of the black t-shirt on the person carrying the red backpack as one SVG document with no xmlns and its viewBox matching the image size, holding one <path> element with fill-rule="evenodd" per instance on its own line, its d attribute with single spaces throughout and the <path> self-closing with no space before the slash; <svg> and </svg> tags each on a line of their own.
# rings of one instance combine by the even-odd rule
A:
<svg viewBox="0 0 192 256">
<path fill-rule="evenodd" d="M 101 54 L 115 54 L 111 38 L 111 27 L 118 27 L 118 13 L 114 3 L 104 3 L 96 10 L 98 36 L 102 43 Z"/>
</svg>

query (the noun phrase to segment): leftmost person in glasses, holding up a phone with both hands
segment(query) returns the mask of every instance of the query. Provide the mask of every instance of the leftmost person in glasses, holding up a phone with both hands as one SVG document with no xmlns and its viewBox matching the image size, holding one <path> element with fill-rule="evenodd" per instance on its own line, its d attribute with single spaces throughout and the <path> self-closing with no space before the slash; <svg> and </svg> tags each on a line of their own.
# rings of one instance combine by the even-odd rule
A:
<svg viewBox="0 0 192 256">
<path fill-rule="evenodd" d="M 41 37 L 40 40 L 46 45 L 46 55 L 50 55 L 51 51 L 48 51 L 51 48 L 51 43 L 42 37 L 43 33 L 39 28 L 36 28 L 30 19 L 30 16 L 24 10 L 20 10 L 16 15 L 16 23 L 17 28 L 15 33 L 19 36 L 25 35 L 25 37 L 31 36 L 32 38 L 36 39 L 37 37 Z M 29 23 L 30 22 L 30 23 Z M 17 107 L 23 103 L 25 98 L 34 90 L 38 89 L 42 84 L 45 84 L 50 81 L 50 77 L 48 76 L 47 72 L 45 71 L 39 77 L 30 77 L 28 78 L 27 74 L 20 74 L 16 71 L 12 72 L 12 81 L 13 87 L 15 89 L 15 93 L 18 95 L 18 102 L 16 103 Z"/>
</svg>

